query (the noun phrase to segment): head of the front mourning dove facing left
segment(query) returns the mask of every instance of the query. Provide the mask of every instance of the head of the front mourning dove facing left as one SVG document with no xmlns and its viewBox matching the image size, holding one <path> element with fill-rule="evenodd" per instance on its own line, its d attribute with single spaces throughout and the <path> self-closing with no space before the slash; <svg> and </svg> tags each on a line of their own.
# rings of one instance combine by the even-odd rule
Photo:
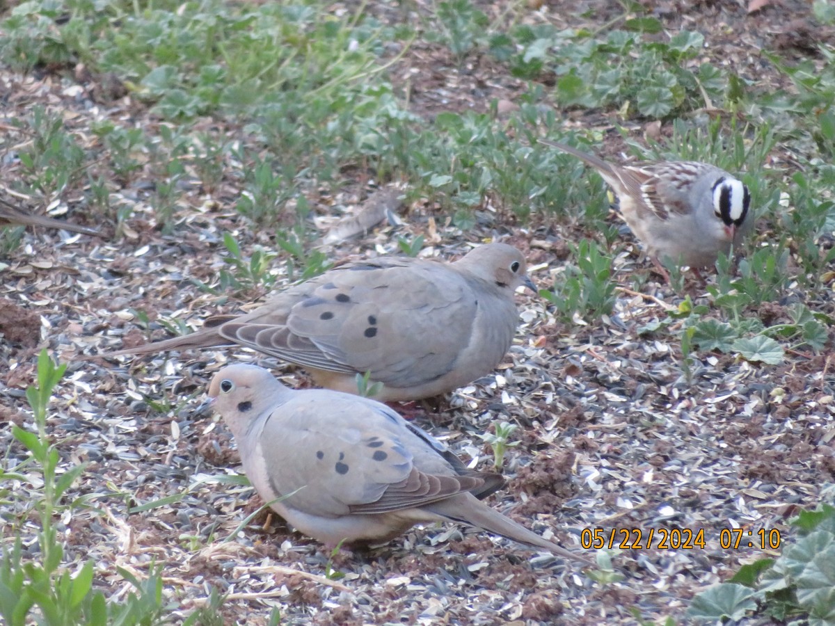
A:
<svg viewBox="0 0 835 626">
<path fill-rule="evenodd" d="M 209 384 L 209 397 L 215 410 L 238 437 L 246 425 L 280 402 L 279 396 L 290 391 L 263 367 L 226 366 Z"/>
</svg>

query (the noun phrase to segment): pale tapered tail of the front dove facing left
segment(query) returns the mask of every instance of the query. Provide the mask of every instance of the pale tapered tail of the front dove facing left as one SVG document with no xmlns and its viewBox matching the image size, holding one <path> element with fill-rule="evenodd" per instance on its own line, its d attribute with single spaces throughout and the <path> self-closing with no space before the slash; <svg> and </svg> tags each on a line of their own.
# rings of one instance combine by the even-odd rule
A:
<svg viewBox="0 0 835 626">
<path fill-rule="evenodd" d="M 433 502 L 424 505 L 423 508 L 446 517 L 451 522 L 466 524 L 475 528 L 483 528 L 489 533 L 501 535 L 504 538 L 513 539 L 533 548 L 547 550 L 558 557 L 569 558 L 572 561 L 584 565 L 595 565 L 595 562 L 566 550 L 554 542 L 539 537 L 538 534 L 529 531 L 524 526 L 515 523 L 509 517 L 500 512 L 493 511 L 483 502 L 478 501 L 470 494 L 461 494 L 463 497 L 450 497 L 441 502 Z"/>
</svg>

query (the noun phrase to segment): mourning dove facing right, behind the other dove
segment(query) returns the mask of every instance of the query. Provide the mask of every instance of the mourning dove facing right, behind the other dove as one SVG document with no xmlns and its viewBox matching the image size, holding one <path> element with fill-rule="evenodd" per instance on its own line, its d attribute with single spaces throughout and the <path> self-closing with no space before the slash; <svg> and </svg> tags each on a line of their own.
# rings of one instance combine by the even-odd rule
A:
<svg viewBox="0 0 835 626">
<path fill-rule="evenodd" d="M 191 335 L 101 356 L 239 344 L 304 366 L 319 386 L 381 401 L 437 396 L 488 374 L 513 342 L 514 291 L 534 285 L 519 250 L 485 244 L 454 263 L 381 257 L 295 285 L 243 316 L 216 316 Z"/>
</svg>

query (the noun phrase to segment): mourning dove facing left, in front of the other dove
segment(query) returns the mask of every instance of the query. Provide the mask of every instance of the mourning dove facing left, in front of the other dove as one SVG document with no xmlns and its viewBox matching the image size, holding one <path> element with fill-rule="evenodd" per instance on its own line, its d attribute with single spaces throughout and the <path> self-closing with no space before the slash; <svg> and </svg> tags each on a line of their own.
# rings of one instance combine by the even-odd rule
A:
<svg viewBox="0 0 835 626">
<path fill-rule="evenodd" d="M 481 502 L 504 479 L 468 469 L 381 402 L 292 390 L 251 365 L 218 371 L 209 396 L 252 486 L 287 522 L 328 546 L 382 543 L 416 523 L 456 522 L 593 564 Z"/>
</svg>

